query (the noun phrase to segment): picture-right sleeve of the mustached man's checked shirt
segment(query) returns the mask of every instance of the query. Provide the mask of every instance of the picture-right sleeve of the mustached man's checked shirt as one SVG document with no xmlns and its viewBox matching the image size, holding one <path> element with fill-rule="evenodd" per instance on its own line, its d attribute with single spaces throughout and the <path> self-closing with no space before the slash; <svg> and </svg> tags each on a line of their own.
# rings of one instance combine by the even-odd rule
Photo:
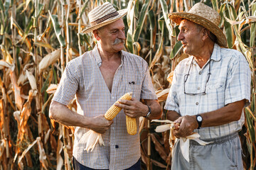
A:
<svg viewBox="0 0 256 170">
<path fill-rule="evenodd" d="M 151 77 L 149 74 L 149 66 L 146 62 L 143 62 L 142 67 L 144 69 L 144 79 L 142 82 L 141 98 L 157 100 L 156 91 L 154 90 Z"/>
</svg>

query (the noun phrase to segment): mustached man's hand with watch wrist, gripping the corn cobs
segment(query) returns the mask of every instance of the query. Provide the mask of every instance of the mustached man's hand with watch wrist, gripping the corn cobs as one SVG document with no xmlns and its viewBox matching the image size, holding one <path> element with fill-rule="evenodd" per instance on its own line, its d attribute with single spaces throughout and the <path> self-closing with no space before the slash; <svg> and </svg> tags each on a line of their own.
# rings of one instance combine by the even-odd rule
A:
<svg viewBox="0 0 256 170">
<path fill-rule="evenodd" d="M 149 108 L 136 98 L 132 98 L 131 101 L 119 100 L 119 102 L 114 105 L 123 108 L 124 113 L 131 118 L 145 116 L 149 112 Z"/>
</svg>

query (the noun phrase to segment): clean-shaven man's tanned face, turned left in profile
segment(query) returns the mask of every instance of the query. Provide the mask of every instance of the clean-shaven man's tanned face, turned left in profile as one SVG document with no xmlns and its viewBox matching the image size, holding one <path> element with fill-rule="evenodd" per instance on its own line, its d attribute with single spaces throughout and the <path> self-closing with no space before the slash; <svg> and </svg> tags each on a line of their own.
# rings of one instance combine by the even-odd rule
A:
<svg viewBox="0 0 256 170">
<path fill-rule="evenodd" d="M 194 55 L 201 47 L 203 40 L 203 31 L 200 26 L 186 19 L 182 20 L 178 26 L 180 33 L 178 40 L 183 45 L 183 52 L 188 55 Z"/>
</svg>

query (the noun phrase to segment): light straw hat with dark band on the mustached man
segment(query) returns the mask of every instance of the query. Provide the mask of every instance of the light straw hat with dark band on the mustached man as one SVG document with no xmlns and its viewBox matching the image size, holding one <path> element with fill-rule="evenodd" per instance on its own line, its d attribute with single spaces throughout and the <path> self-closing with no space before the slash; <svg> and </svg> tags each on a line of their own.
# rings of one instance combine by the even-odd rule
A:
<svg viewBox="0 0 256 170">
<path fill-rule="evenodd" d="M 127 14 L 127 9 L 117 11 L 110 2 L 105 2 L 101 6 L 97 6 L 88 13 L 90 27 L 82 30 L 82 33 L 90 33 L 102 26 L 113 23 Z"/>
</svg>

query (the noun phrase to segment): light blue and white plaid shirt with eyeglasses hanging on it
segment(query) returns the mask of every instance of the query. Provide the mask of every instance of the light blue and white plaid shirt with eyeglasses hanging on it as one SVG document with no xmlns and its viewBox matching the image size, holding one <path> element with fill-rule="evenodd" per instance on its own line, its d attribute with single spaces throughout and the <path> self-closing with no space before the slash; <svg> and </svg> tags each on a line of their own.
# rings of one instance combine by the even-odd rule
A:
<svg viewBox="0 0 256 170">
<path fill-rule="evenodd" d="M 190 65 L 191 70 L 185 84 L 186 93 L 202 93 L 206 89 L 206 95 L 184 94 L 184 77 L 188 74 Z M 206 84 L 209 65 L 210 78 Z M 164 108 L 168 111 L 176 111 L 183 116 L 215 111 L 228 103 L 242 99 L 246 99 L 245 106 L 248 106 L 250 103 L 250 74 L 249 65 L 242 53 L 237 50 L 220 48 L 215 44 L 210 62 L 208 60 L 202 68 L 193 60 L 193 56 L 182 60 L 177 65 Z M 198 132 L 202 140 L 222 137 L 241 130 L 244 120 L 242 113 L 238 121 L 200 128 L 194 132 Z"/>
</svg>

